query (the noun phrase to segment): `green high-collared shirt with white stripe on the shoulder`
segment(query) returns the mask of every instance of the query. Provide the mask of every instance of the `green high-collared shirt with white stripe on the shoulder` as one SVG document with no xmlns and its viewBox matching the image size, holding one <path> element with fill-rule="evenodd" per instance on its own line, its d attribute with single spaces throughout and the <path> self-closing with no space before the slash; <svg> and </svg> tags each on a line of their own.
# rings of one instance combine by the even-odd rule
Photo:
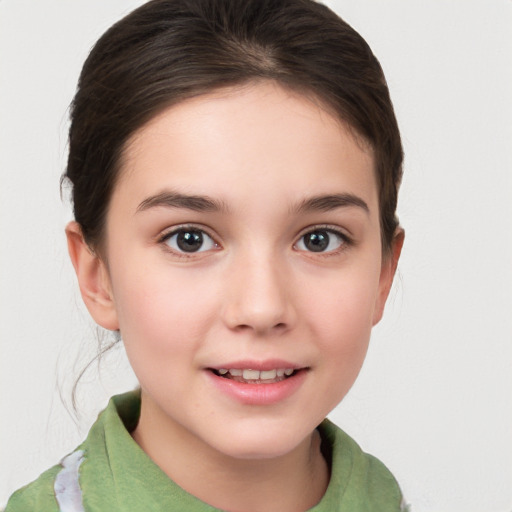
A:
<svg viewBox="0 0 512 512">
<path fill-rule="evenodd" d="M 132 439 L 130 432 L 139 415 L 139 393 L 113 397 L 85 442 L 63 463 L 15 492 L 5 512 L 218 511 L 175 484 Z M 405 510 L 398 484 L 379 460 L 364 453 L 329 420 L 318 429 L 322 449 L 330 458 L 331 478 L 324 497 L 310 512 Z M 64 470 L 62 464 L 71 468 Z M 75 491 L 81 489 L 83 509 L 80 490 L 78 506 L 62 499 L 57 502 L 55 489 L 62 482 L 75 485 Z"/>
</svg>

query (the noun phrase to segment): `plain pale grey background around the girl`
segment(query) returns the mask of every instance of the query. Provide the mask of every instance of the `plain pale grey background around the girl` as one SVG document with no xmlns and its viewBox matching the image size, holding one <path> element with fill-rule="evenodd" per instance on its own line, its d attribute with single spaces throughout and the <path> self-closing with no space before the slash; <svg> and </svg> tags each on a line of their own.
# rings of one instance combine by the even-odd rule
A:
<svg viewBox="0 0 512 512">
<path fill-rule="evenodd" d="M 96 350 L 59 197 L 67 106 L 93 42 L 140 1 L 0 1 L 0 507 L 135 385 Z M 338 0 L 386 72 L 407 238 L 359 381 L 331 417 L 415 512 L 512 510 L 512 2 Z M 69 407 L 69 405 L 68 405 Z"/>
</svg>

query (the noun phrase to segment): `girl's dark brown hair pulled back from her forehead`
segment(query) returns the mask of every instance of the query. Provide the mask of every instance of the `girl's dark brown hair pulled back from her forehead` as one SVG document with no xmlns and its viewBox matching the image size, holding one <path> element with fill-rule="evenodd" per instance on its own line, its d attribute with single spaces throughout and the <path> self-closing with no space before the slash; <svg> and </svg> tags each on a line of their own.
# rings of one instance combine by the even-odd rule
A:
<svg viewBox="0 0 512 512">
<path fill-rule="evenodd" d="M 136 130 L 184 99 L 258 80 L 312 94 L 370 144 L 387 251 L 403 153 L 384 74 L 364 39 L 313 0 L 153 0 L 98 40 L 71 105 L 63 175 L 89 246 L 101 248 Z"/>
</svg>

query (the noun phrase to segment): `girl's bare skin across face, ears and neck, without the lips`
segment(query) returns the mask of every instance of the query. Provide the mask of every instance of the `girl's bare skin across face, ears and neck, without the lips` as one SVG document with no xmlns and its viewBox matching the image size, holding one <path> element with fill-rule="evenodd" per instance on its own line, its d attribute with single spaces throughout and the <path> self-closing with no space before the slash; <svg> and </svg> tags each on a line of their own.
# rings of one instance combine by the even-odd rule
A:
<svg viewBox="0 0 512 512">
<path fill-rule="evenodd" d="M 323 196 L 337 199 L 308 203 Z M 207 234 L 199 252 L 164 239 L 183 225 Z M 304 235 L 326 227 L 340 233 L 328 250 L 308 250 Z M 403 242 L 399 231 L 382 256 L 371 149 L 273 83 L 193 98 L 129 140 L 105 235 L 100 257 L 67 228 L 84 301 L 120 330 L 141 384 L 136 442 L 218 508 L 315 505 L 329 478 L 315 428 L 359 373 Z M 305 368 L 284 400 L 245 404 L 212 386 L 208 368 L 276 358 Z"/>
</svg>

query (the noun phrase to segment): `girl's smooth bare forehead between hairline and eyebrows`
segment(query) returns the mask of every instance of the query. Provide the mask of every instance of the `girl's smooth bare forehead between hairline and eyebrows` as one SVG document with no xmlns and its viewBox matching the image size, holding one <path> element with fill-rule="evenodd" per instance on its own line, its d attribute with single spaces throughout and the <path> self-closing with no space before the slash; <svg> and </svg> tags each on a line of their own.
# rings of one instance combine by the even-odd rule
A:
<svg viewBox="0 0 512 512">
<path fill-rule="evenodd" d="M 282 202 L 342 188 L 372 202 L 373 162 L 368 145 L 321 102 L 263 82 L 191 98 L 153 118 L 128 141 L 114 195 L 172 187 L 226 200 L 259 191 Z"/>
</svg>

